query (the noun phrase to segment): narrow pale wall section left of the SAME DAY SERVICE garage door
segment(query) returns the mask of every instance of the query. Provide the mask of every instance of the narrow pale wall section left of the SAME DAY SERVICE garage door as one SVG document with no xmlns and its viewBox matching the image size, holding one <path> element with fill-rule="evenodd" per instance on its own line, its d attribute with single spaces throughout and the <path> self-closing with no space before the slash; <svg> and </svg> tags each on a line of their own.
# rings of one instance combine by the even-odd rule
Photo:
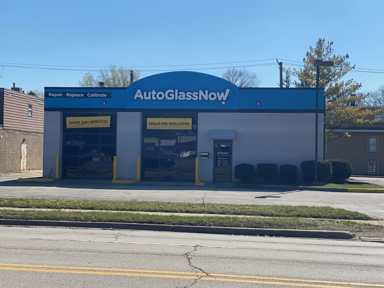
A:
<svg viewBox="0 0 384 288">
<path fill-rule="evenodd" d="M 49 175 L 50 177 L 54 177 L 56 175 L 56 155 L 60 155 L 60 161 L 62 161 L 60 153 L 61 131 L 61 112 L 44 112 L 43 178 L 49 178 Z M 61 168 L 59 171 L 59 177 L 61 177 Z"/>
</svg>

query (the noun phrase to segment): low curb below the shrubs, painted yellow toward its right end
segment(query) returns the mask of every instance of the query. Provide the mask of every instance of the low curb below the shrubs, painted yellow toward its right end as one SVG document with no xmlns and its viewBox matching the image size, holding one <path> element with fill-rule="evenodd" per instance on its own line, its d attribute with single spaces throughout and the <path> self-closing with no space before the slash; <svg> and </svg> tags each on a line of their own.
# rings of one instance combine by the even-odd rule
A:
<svg viewBox="0 0 384 288">
<path fill-rule="evenodd" d="M 384 189 L 370 189 L 370 188 L 331 188 L 331 187 L 313 187 L 313 186 L 259 185 L 259 184 L 242 184 L 242 183 L 234 183 L 233 187 L 271 189 L 271 190 L 309 190 L 309 191 L 324 191 L 324 192 L 384 193 Z"/>
</svg>

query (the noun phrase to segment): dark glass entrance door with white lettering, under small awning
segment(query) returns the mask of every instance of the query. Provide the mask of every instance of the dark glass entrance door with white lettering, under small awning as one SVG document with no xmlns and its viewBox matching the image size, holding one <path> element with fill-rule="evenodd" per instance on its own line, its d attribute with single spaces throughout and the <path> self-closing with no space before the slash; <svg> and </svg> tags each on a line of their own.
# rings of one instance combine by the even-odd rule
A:
<svg viewBox="0 0 384 288">
<path fill-rule="evenodd" d="M 232 181 L 232 140 L 214 141 L 214 181 Z"/>
</svg>

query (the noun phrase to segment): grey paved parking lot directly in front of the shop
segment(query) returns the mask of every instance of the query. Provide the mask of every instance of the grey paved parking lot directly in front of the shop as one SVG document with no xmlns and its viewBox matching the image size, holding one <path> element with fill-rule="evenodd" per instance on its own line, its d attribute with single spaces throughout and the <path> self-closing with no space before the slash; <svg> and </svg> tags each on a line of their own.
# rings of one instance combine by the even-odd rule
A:
<svg viewBox="0 0 384 288">
<path fill-rule="evenodd" d="M 50 183 L 16 182 L 0 178 L 0 197 L 139 200 L 223 204 L 330 206 L 384 219 L 384 193 L 255 190 L 209 184 L 142 182 L 111 184 L 106 180 L 64 180 Z"/>
</svg>

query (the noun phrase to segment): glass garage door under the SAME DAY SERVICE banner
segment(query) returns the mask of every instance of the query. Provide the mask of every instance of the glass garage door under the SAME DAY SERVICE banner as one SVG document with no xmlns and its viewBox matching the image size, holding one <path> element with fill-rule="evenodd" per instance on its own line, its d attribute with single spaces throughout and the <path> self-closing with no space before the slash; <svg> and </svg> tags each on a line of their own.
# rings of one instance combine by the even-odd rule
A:
<svg viewBox="0 0 384 288">
<path fill-rule="evenodd" d="M 69 119 L 102 119 L 109 127 L 71 127 Z M 109 118 L 108 118 L 109 117 Z M 91 122 L 89 121 L 89 122 Z M 91 124 L 95 125 L 95 124 Z M 97 126 L 97 124 L 96 124 Z M 113 157 L 116 156 L 117 115 L 101 113 L 63 114 L 63 178 L 112 179 Z"/>
</svg>

